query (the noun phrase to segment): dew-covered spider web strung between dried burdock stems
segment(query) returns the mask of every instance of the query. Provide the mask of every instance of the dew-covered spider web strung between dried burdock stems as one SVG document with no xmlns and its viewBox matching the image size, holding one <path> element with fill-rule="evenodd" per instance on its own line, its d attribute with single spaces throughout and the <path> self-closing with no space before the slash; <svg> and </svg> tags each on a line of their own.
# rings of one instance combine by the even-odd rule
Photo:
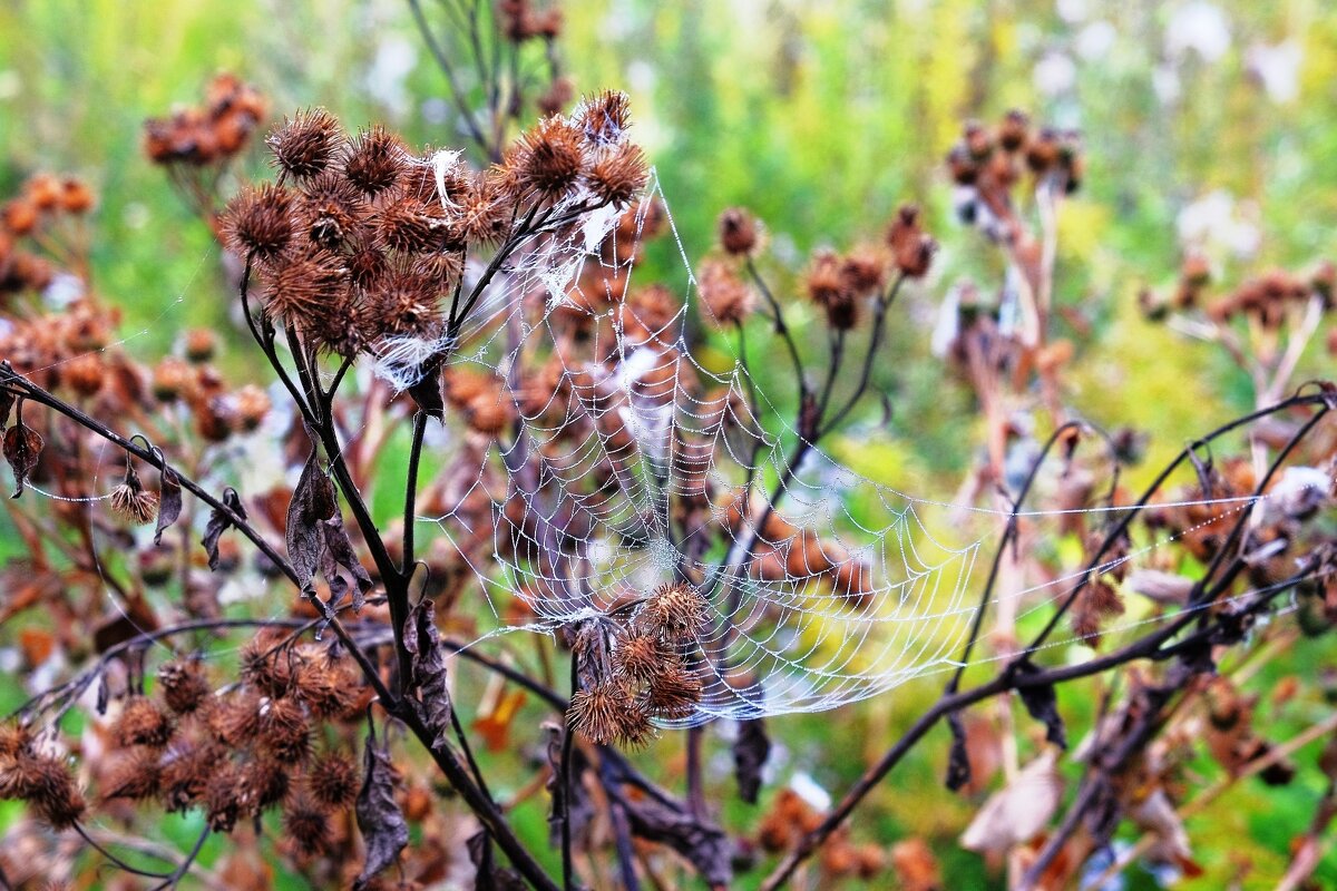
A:
<svg viewBox="0 0 1337 891">
<path fill-rule="evenodd" d="M 509 419 L 496 437 L 452 427 L 445 506 L 420 520 L 440 528 L 492 605 L 496 628 L 475 645 L 626 614 L 659 585 L 687 582 L 710 605 L 691 653 L 705 695 L 694 715 L 664 724 L 830 709 L 953 671 L 1007 506 L 916 498 L 821 448 L 792 469 L 793 405 L 767 398 L 731 338 L 706 334 L 681 242 L 677 289 L 632 281 L 659 227 L 671 248 L 678 236 L 652 179 L 627 216 L 599 211 L 536 236 L 461 337 L 448 395 L 463 390 L 467 414 L 504 409 Z M 753 367 L 783 359 L 763 338 L 749 351 Z M 477 379 L 492 389 L 475 393 Z M 1251 498 L 1195 504 L 1221 520 Z M 1119 510 L 1094 497 L 1021 518 L 1058 529 Z M 1000 586 L 988 606 L 1011 601 L 1016 620 L 1052 609 L 1084 574 L 1074 562 L 1067 576 Z M 1106 631 L 1151 621 L 1130 613 Z M 996 649 L 975 649 L 973 661 L 991 659 Z"/>
</svg>

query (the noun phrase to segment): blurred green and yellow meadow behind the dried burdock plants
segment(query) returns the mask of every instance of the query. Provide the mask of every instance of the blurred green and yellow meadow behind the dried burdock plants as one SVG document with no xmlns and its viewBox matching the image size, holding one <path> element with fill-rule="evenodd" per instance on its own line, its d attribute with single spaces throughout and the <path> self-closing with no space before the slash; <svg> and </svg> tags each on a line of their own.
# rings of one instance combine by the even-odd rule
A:
<svg viewBox="0 0 1337 891">
<path fill-rule="evenodd" d="M 948 285 L 972 275 L 992 289 L 1000 273 L 952 215 L 941 159 L 964 119 L 1020 107 L 1084 134 L 1090 166 L 1066 208 L 1058 271 L 1079 350 L 1070 402 L 1107 427 L 1151 433 L 1148 464 L 1253 405 L 1223 354 L 1144 322 L 1138 290 L 1173 281 L 1190 244 L 1227 285 L 1334 247 L 1337 9 L 1321 0 L 592 0 L 566 17 L 562 55 L 578 92 L 631 95 L 636 139 L 693 260 L 731 204 L 766 222 L 769 262 L 792 274 L 813 247 L 880 238 L 902 200 L 928 210 L 943 252 L 900 305 L 880 363 L 889 435 L 869 437 L 872 418 L 832 446 L 916 494 L 949 497 L 979 441 L 963 429 L 969 395 L 928 350 Z M 186 326 L 235 327 L 209 231 L 142 155 L 144 118 L 197 102 L 226 69 L 267 95 L 275 116 L 325 106 L 414 144 L 467 142 L 401 0 L 11 0 L 0 35 L 0 195 L 36 171 L 95 184 L 95 285 L 124 307 L 130 349 L 146 357 Z M 259 151 L 237 172 L 263 175 Z M 638 274 L 686 289 L 675 251 L 658 266 Z M 230 361 L 245 366 L 245 350 Z M 1332 375 L 1321 349 L 1309 362 Z M 1297 653 L 1278 671 L 1322 657 Z M 857 715 L 782 719 L 779 776 L 845 788 L 936 693 L 927 681 Z M 937 791 L 944 759 L 945 745 L 920 749 L 860 831 L 955 838 L 977 801 Z M 1245 864 L 1242 887 L 1270 887 L 1317 793 L 1246 785 L 1197 818 L 1206 875 L 1193 887 L 1226 887 Z M 545 832 L 541 814 L 529 831 Z M 983 887 L 979 858 L 935 847 L 948 887 Z M 1332 855 L 1318 878 L 1337 883 Z"/>
</svg>

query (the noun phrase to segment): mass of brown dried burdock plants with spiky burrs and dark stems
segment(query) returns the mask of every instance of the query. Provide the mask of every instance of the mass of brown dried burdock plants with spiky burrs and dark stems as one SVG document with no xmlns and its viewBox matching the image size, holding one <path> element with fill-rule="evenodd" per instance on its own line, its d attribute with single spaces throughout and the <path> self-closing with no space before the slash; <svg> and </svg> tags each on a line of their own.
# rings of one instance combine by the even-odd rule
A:
<svg viewBox="0 0 1337 891">
<path fill-rule="evenodd" d="M 967 126 L 947 159 L 963 216 L 1008 269 L 996 297 L 961 281 L 944 299 L 943 358 L 983 422 L 957 501 L 1007 517 L 957 641 L 963 668 L 833 804 L 796 783 L 755 812 L 723 808 L 709 696 L 723 684 L 765 711 L 763 679 L 735 659 L 739 635 L 782 629 L 805 598 L 878 617 L 874 566 L 783 500 L 889 389 L 894 301 L 941 263 L 931 214 L 901 207 L 878 236 L 786 267 L 766 250 L 767 226 L 723 211 L 695 279 L 714 323 L 701 330 L 674 290 L 632 282 L 667 215 L 646 194 L 624 96 L 560 114 L 560 12 L 475 5 L 449 40 L 516 64 L 484 64 L 473 83 L 459 67 L 468 56 L 410 7 L 481 166 L 412 151 L 378 126 L 350 135 L 309 110 L 266 139 L 274 182 L 215 215 L 265 102 L 225 76 L 202 108 L 146 128 L 150 159 L 245 267 L 243 321 L 267 362 L 246 386 L 214 369 L 222 338 L 209 333 L 186 333 L 154 365 L 118 341 L 119 315 L 90 285 L 87 186 L 39 175 L 4 206 L 0 425 L 16 494 L 32 492 L 7 502 L 24 556 L 4 569 L 0 618 L 27 622 L 23 671 L 44 679 L 0 724 L 0 797 L 25 807 L 0 843 L 5 883 L 88 886 L 80 864 L 92 862 L 171 887 L 226 835 L 227 854 L 201 875 L 234 887 L 271 887 L 278 859 L 314 887 L 718 888 L 777 858 L 763 888 L 812 860 L 821 887 L 894 876 L 929 891 L 944 871 L 927 839 L 889 844 L 850 818 L 940 721 L 948 785 L 979 799 L 960 844 L 1005 864 L 1016 887 L 1071 887 L 1120 827 L 1143 834 L 1143 863 L 1191 875 L 1202 867 L 1183 820 L 1203 796 L 1251 776 L 1289 783 L 1300 747 L 1337 729 L 1326 708 L 1278 739 L 1246 689 L 1249 659 L 1337 624 L 1322 482 L 1337 472 L 1324 422 L 1337 399 L 1330 387 L 1286 397 L 1330 309 L 1330 267 L 1269 273 L 1209 302 L 1209 270 L 1190 258 L 1175 298 L 1146 298 L 1190 334 L 1209 326 L 1254 371 L 1259 410 L 1130 492 L 1116 468 L 1136 437 L 1072 419 L 1074 346 L 1055 337 L 1058 216 L 1084 176 L 1080 140 L 1012 112 Z M 531 69 L 521 59 L 541 59 L 536 80 L 508 73 Z M 544 116 L 520 130 L 529 108 Z M 588 231 L 603 236 L 564 293 L 525 278 Z M 493 313 L 499 301 L 515 311 Z M 406 343 L 412 367 L 394 385 L 350 374 Z M 721 346 L 747 386 L 715 390 L 694 370 L 694 351 Z M 766 401 L 751 386 L 762 355 L 793 381 Z M 694 427 L 634 423 L 689 409 Z M 428 445 L 437 422 L 444 458 Z M 1225 454 L 1235 429 L 1250 430 L 1246 454 Z M 647 457 L 651 435 L 663 448 Z M 238 490 L 259 454 L 278 473 Z M 647 482 L 662 505 L 615 524 L 599 513 Z M 1032 516 L 1036 502 L 1058 513 Z M 424 516 L 447 518 L 448 534 L 417 534 Z M 639 553 L 652 538 L 671 545 L 670 580 L 594 581 L 599 548 Z M 1071 582 L 1056 600 L 1027 597 L 1055 580 Z M 793 585 L 796 600 L 739 620 L 746 582 Z M 469 645 L 503 586 L 500 621 L 558 633 L 500 655 Z M 1292 596 L 1294 620 L 1281 608 Z M 1021 609 L 1043 617 L 1029 636 Z M 1060 627 L 1095 656 L 1048 660 Z M 235 648 L 238 632 L 249 640 Z M 821 656 L 820 641 L 797 645 Z M 977 648 L 989 668 L 967 676 Z M 1118 683 L 1070 752 L 1059 692 L 1092 677 Z M 1306 695 L 1297 680 L 1271 705 Z M 74 709 L 79 731 L 63 723 Z M 543 715 L 562 721 L 540 727 Z M 746 806 L 771 780 L 775 724 L 753 715 L 731 728 Z M 678 745 L 681 759 L 659 757 Z M 651 756 L 624 751 L 640 748 Z M 1215 792 L 1197 792 L 1203 753 L 1225 776 Z M 1298 851 L 1321 847 L 1333 797 Z M 551 851 L 521 828 L 535 803 Z M 131 842 L 168 812 L 203 818 L 198 843 L 166 870 L 143 866 Z M 1304 879 L 1297 870 L 1293 887 Z"/>
</svg>

